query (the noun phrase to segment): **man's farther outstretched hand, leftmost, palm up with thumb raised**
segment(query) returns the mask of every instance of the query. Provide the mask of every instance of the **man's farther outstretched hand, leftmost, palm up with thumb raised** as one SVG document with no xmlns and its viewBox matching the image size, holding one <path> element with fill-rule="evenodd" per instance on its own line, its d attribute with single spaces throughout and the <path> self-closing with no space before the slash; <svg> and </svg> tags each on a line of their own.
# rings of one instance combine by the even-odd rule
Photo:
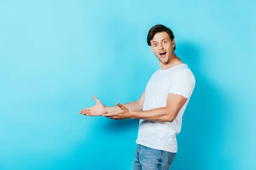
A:
<svg viewBox="0 0 256 170">
<path fill-rule="evenodd" d="M 102 114 L 107 113 L 105 105 L 102 104 L 95 96 L 93 96 L 93 99 L 96 102 L 96 105 L 82 109 L 79 113 L 86 115 L 86 116 L 102 116 Z"/>
</svg>

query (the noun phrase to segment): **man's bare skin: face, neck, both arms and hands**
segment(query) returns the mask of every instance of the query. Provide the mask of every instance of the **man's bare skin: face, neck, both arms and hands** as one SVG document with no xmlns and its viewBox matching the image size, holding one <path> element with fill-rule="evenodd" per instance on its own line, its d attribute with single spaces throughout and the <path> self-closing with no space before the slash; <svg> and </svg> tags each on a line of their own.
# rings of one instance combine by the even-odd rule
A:
<svg viewBox="0 0 256 170">
<path fill-rule="evenodd" d="M 171 40 L 166 32 L 160 32 L 154 35 L 151 40 L 151 51 L 159 60 L 162 70 L 175 67 L 183 62 L 174 53 L 175 40 Z M 165 57 L 160 53 L 166 52 Z M 148 111 L 142 111 L 145 100 L 145 91 L 135 102 L 129 102 L 124 105 L 116 103 L 116 106 L 106 107 L 95 96 L 93 99 L 96 105 L 82 109 L 79 113 L 86 116 L 105 116 L 110 119 L 144 119 L 152 121 L 173 122 L 180 109 L 186 102 L 184 96 L 169 93 L 166 100 L 166 107 L 155 108 Z"/>
</svg>

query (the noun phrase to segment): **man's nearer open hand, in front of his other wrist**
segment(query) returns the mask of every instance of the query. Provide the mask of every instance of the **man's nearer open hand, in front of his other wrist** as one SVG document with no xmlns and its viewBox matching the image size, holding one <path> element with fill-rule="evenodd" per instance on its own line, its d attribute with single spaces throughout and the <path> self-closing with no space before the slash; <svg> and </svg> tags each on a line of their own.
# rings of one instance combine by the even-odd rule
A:
<svg viewBox="0 0 256 170">
<path fill-rule="evenodd" d="M 119 111 L 113 113 L 103 114 L 102 116 L 108 117 L 109 119 L 122 120 L 131 118 L 131 111 L 126 108 L 124 105 L 116 103 L 116 105 L 120 108 Z"/>
</svg>

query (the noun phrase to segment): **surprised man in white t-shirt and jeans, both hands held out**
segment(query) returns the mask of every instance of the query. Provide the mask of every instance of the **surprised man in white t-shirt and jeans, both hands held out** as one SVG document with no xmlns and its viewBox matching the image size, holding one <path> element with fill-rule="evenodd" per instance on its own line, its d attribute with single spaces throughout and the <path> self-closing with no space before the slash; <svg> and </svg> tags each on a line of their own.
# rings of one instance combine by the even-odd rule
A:
<svg viewBox="0 0 256 170">
<path fill-rule="evenodd" d="M 93 96 L 96 105 L 80 113 L 117 120 L 140 119 L 134 170 L 166 170 L 177 153 L 176 135 L 181 130 L 195 77 L 174 53 L 175 40 L 169 28 L 153 26 L 148 31 L 147 42 L 161 68 L 151 76 L 140 99 L 106 107 Z"/>
</svg>

